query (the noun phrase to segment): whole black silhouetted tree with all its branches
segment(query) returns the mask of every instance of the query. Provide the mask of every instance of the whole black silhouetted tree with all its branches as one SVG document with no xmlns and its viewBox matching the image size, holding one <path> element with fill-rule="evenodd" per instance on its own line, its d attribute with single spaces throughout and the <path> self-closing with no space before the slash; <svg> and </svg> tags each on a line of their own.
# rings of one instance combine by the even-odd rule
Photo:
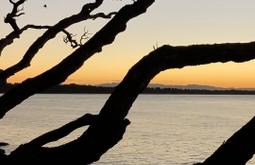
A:
<svg viewBox="0 0 255 165">
<path fill-rule="evenodd" d="M 80 13 L 64 18 L 54 26 L 26 25 L 20 28 L 15 18 L 24 14 L 20 9 L 20 5 L 24 2 L 25 0 L 17 2 L 10 0 L 10 3 L 13 4 L 13 10 L 7 14 L 5 22 L 10 24 L 13 32 L 0 40 L 0 52 L 12 44 L 15 38 L 19 38 L 25 30 L 30 28 L 47 30 L 31 44 L 20 62 L 0 72 L 2 85 L 15 73 L 29 67 L 39 49 L 43 48 L 45 43 L 59 32 L 64 32 L 66 34 L 65 41 L 77 49 L 53 68 L 23 81 L 2 95 L 0 97 L 1 118 L 28 97 L 64 82 L 87 59 L 100 52 L 103 46 L 111 44 L 120 32 L 126 30 L 127 22 L 145 13 L 147 8 L 154 3 L 154 0 L 136 0 L 125 5 L 118 12 L 109 14 L 91 14 L 103 3 L 103 0 L 95 0 L 95 2 L 85 4 Z M 65 30 L 74 23 L 96 18 L 110 18 L 111 20 L 84 44 L 75 41 L 72 34 Z M 0 162 L 2 164 L 32 165 L 89 164 L 97 161 L 102 154 L 122 139 L 126 127 L 130 124 L 130 121 L 126 119 L 130 107 L 137 96 L 147 87 L 150 80 L 161 71 L 213 62 L 244 62 L 254 58 L 254 42 L 178 47 L 164 45 L 159 47 L 129 70 L 99 114 L 85 114 L 75 121 L 20 145 L 10 155 L 5 155 L 0 151 Z M 255 119 L 252 119 L 201 164 L 245 164 L 255 152 L 253 142 L 255 135 L 252 132 L 255 128 L 254 124 Z M 85 125 L 89 127 L 78 139 L 57 147 L 44 147 L 45 144 L 61 139 Z M 240 150 L 242 150 L 241 153 Z"/>
</svg>

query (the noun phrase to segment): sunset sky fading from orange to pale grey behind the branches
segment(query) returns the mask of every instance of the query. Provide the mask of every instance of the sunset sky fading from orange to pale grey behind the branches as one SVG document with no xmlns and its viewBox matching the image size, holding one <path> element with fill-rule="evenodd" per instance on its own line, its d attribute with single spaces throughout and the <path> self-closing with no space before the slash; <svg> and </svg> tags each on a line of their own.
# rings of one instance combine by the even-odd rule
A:
<svg viewBox="0 0 255 165">
<path fill-rule="evenodd" d="M 27 0 L 25 15 L 18 18 L 20 27 L 26 24 L 54 25 L 60 19 L 78 13 L 84 0 Z M 130 0 L 105 0 L 97 11 L 117 11 Z M 43 5 L 47 4 L 47 8 Z M 0 38 L 12 29 L 4 24 L 6 13 L 11 10 L 9 0 L 1 0 Z M 149 10 L 128 23 L 125 32 L 115 42 L 105 46 L 101 53 L 86 61 L 81 69 L 65 83 L 101 84 L 120 82 L 129 68 L 153 50 L 165 44 L 179 46 L 250 42 L 255 40 L 254 0 L 156 0 Z M 90 36 L 108 20 L 86 21 L 68 28 L 79 36 L 84 28 Z M 29 30 L 8 46 L 0 57 L 0 68 L 15 64 L 43 31 Z M 74 51 L 63 42 L 63 34 L 50 40 L 33 59 L 31 67 L 16 74 L 8 82 L 21 82 L 34 77 Z M 161 72 L 152 83 L 204 84 L 221 87 L 255 87 L 255 61 L 235 64 L 232 62 L 210 64 Z"/>
</svg>

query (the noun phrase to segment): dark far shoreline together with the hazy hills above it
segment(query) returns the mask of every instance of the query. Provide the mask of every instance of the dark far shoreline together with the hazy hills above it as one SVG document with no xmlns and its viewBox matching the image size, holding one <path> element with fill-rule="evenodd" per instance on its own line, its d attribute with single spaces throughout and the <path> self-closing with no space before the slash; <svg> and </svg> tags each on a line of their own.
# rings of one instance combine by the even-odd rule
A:
<svg viewBox="0 0 255 165">
<path fill-rule="evenodd" d="M 0 87 L 0 93 L 5 93 L 17 84 L 7 84 Z M 93 85 L 58 85 L 45 90 L 42 93 L 56 94 L 109 94 L 117 83 Z M 150 84 L 144 94 L 230 94 L 230 95 L 254 95 L 255 88 L 222 88 L 208 85 L 162 85 Z"/>
</svg>

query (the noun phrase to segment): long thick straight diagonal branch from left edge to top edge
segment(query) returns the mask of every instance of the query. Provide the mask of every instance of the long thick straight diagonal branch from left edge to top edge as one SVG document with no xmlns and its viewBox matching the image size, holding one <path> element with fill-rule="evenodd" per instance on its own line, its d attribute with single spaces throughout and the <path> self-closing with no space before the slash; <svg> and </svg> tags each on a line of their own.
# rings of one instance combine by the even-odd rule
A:
<svg viewBox="0 0 255 165">
<path fill-rule="evenodd" d="M 127 22 L 146 12 L 146 9 L 153 2 L 154 0 L 139 0 L 134 4 L 124 6 L 120 9 L 118 14 L 90 38 L 86 44 L 75 50 L 58 65 L 33 79 L 25 80 L 20 85 L 2 95 L 0 98 L 0 118 L 2 118 L 7 111 L 31 95 L 65 81 L 69 75 L 83 65 L 84 61 L 95 53 L 100 52 L 103 46 L 111 44 L 116 35 L 126 29 Z"/>
</svg>

